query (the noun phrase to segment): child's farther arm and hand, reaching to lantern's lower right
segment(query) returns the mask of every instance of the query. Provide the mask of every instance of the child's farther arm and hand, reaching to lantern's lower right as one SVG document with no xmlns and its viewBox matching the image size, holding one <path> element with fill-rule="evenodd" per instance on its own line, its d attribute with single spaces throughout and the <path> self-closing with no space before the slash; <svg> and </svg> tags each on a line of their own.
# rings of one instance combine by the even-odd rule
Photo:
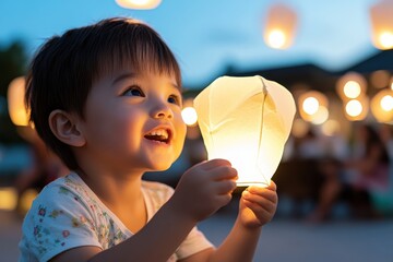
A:
<svg viewBox="0 0 393 262">
<path fill-rule="evenodd" d="M 252 261 L 262 226 L 269 223 L 277 206 L 276 186 L 250 187 L 240 199 L 239 215 L 222 246 L 216 250 L 204 250 L 182 262 L 192 261 Z"/>
</svg>

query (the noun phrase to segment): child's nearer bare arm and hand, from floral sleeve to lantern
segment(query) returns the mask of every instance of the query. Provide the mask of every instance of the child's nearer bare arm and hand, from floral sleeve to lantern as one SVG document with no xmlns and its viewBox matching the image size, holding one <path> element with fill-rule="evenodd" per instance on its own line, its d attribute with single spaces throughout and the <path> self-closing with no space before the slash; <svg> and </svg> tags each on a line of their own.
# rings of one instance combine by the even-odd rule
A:
<svg viewBox="0 0 393 262">
<path fill-rule="evenodd" d="M 201 163 L 182 176 L 174 195 L 133 237 L 104 251 L 70 249 L 51 261 L 166 261 L 198 222 L 230 201 L 236 178 L 227 160 Z"/>
</svg>

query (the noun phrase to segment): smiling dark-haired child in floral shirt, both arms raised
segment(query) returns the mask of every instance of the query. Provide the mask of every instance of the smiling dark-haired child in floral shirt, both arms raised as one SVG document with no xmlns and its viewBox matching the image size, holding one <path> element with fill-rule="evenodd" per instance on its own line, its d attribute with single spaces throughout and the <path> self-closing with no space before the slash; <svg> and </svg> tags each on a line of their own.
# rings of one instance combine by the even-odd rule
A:
<svg viewBox="0 0 393 262">
<path fill-rule="evenodd" d="M 142 179 L 168 169 L 186 136 L 179 66 L 150 26 L 114 17 L 52 37 L 33 60 L 26 98 L 72 171 L 34 201 L 20 261 L 252 261 L 276 211 L 274 182 L 243 191 L 215 248 L 195 225 L 231 200 L 229 162 L 192 166 L 175 190 Z"/>
</svg>

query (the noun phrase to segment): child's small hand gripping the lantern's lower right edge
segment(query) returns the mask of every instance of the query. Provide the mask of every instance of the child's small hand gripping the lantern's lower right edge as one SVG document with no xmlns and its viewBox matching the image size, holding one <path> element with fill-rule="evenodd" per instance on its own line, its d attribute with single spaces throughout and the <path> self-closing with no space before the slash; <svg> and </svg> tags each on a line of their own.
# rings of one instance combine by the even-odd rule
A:
<svg viewBox="0 0 393 262">
<path fill-rule="evenodd" d="M 273 218 L 277 202 L 273 181 L 267 188 L 251 186 L 241 194 L 238 219 L 247 228 L 261 227 Z"/>
</svg>

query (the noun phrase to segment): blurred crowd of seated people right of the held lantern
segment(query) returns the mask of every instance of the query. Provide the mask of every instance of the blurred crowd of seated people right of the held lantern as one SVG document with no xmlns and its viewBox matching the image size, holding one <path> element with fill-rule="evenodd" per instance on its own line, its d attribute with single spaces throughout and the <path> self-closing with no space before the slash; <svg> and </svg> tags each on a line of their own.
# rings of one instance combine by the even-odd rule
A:
<svg viewBox="0 0 393 262">
<path fill-rule="evenodd" d="M 327 136 L 311 128 L 301 138 L 291 136 L 273 177 L 279 194 L 308 201 L 308 212 L 300 215 L 315 223 L 334 218 L 338 204 L 346 206 L 350 217 L 392 215 L 392 128 L 354 122 L 347 136 Z"/>
</svg>

